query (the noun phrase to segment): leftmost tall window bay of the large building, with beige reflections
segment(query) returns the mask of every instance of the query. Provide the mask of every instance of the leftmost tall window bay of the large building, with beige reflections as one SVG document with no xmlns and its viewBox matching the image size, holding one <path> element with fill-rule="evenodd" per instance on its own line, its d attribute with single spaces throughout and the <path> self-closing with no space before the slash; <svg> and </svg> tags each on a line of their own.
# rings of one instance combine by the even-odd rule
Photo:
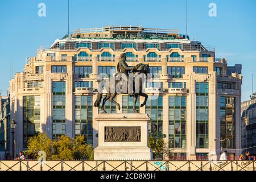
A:
<svg viewBox="0 0 256 182">
<path fill-rule="evenodd" d="M 23 148 L 40 132 L 40 96 L 23 96 Z"/>
</svg>

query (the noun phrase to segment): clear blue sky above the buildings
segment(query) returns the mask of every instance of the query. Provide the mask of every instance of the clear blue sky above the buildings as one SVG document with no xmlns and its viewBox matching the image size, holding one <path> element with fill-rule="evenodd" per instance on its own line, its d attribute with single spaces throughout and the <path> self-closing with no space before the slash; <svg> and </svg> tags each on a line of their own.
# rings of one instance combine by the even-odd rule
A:
<svg viewBox="0 0 256 182">
<path fill-rule="evenodd" d="M 38 4 L 46 4 L 46 17 L 38 16 Z M 256 91 L 256 1 L 188 0 L 188 34 L 191 39 L 216 47 L 216 57 L 228 65 L 242 64 L 242 100 L 251 94 L 251 74 Z M 208 15 L 216 3 L 217 17 Z M 109 25 L 141 25 L 179 29 L 185 33 L 185 0 L 70 0 L 70 30 Z M 0 90 L 9 86 L 10 64 L 14 72 L 24 68 L 25 57 L 49 46 L 67 33 L 67 0 L 0 1 Z"/>
</svg>

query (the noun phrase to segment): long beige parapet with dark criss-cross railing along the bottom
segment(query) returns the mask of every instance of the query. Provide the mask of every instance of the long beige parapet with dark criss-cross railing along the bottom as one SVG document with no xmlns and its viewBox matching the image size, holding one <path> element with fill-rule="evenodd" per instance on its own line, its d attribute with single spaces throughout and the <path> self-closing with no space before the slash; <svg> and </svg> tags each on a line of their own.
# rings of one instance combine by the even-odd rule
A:
<svg viewBox="0 0 256 182">
<path fill-rule="evenodd" d="M 255 171 L 255 161 L 14 161 L 0 171 Z"/>
</svg>

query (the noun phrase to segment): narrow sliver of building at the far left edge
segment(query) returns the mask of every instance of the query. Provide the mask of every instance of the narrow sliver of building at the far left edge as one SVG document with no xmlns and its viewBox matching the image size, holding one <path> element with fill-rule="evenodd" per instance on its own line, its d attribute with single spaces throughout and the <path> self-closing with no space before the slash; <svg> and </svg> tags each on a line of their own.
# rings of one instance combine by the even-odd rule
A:
<svg viewBox="0 0 256 182">
<path fill-rule="evenodd" d="M 0 159 L 10 158 L 10 98 L 0 94 Z"/>
</svg>

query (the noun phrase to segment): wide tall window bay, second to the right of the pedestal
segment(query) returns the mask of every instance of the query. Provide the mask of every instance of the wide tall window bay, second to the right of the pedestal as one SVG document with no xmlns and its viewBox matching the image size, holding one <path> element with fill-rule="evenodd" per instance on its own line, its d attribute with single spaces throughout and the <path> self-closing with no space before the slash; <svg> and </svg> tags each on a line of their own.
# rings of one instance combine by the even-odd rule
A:
<svg viewBox="0 0 256 182">
<path fill-rule="evenodd" d="M 186 148 L 186 96 L 169 96 L 169 148 Z"/>
</svg>

